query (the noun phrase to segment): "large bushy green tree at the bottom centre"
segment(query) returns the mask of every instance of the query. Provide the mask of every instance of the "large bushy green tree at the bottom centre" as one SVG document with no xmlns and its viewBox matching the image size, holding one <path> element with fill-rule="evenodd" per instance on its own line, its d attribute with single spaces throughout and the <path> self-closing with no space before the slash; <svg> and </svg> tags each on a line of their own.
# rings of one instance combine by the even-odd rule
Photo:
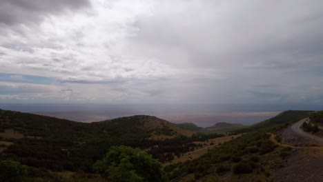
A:
<svg viewBox="0 0 323 182">
<path fill-rule="evenodd" d="M 112 147 L 104 159 L 97 161 L 93 168 L 109 181 L 167 181 L 161 164 L 151 155 L 124 145 Z"/>
</svg>

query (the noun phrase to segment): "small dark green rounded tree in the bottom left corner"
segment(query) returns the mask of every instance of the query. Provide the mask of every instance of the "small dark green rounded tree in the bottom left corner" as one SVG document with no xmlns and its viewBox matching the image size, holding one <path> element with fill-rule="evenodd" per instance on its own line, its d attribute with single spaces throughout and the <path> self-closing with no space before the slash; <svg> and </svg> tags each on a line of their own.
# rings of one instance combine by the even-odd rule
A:
<svg viewBox="0 0 323 182">
<path fill-rule="evenodd" d="M 0 181 L 17 182 L 24 181 L 28 174 L 26 165 L 21 165 L 16 161 L 0 162 Z"/>
</svg>

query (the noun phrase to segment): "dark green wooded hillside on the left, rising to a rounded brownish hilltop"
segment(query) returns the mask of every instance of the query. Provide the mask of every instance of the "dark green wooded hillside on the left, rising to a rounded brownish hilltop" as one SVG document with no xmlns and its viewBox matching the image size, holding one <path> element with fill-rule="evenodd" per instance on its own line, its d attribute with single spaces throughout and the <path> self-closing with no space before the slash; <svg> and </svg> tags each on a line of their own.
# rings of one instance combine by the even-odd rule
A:
<svg viewBox="0 0 323 182">
<path fill-rule="evenodd" d="M 79 123 L 1 110 L 0 161 L 14 159 L 36 168 L 92 172 L 92 164 L 113 145 L 147 149 L 161 140 L 192 134 L 157 117 Z"/>
</svg>

